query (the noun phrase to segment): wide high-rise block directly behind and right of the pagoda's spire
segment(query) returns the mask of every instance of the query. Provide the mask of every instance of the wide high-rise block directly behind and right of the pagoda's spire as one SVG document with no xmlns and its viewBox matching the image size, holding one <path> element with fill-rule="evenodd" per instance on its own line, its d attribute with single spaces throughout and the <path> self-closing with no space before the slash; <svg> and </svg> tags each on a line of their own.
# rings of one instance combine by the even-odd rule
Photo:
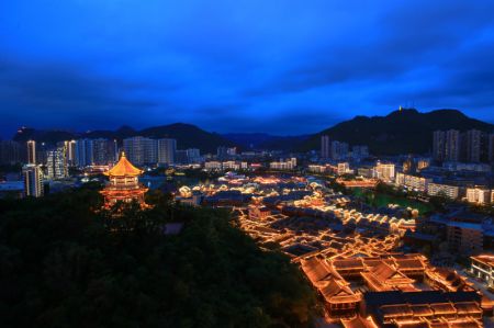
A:
<svg viewBox="0 0 494 328">
<path fill-rule="evenodd" d="M 146 137 L 132 137 L 123 140 L 123 149 L 133 163 L 137 166 L 158 162 L 157 140 Z"/>
</svg>

